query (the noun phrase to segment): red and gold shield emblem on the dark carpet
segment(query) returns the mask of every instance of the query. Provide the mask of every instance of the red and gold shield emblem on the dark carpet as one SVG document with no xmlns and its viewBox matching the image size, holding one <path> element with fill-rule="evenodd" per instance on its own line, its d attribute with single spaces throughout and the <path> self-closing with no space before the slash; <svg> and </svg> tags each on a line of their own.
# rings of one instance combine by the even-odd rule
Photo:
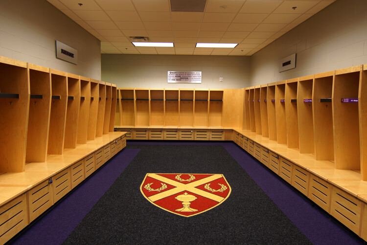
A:
<svg viewBox="0 0 367 245">
<path fill-rule="evenodd" d="M 223 174 L 147 173 L 140 191 L 157 207 L 190 217 L 222 204 L 231 189 Z"/>
</svg>

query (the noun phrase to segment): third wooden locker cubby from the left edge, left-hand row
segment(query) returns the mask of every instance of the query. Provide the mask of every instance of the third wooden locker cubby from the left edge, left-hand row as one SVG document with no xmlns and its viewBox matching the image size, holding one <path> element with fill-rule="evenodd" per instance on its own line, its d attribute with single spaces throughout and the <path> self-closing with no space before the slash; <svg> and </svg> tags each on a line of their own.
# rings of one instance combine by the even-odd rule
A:
<svg viewBox="0 0 367 245">
<path fill-rule="evenodd" d="M 52 98 L 47 154 L 61 155 L 64 150 L 66 110 L 68 105 L 67 75 L 52 69 L 50 73 Z"/>
</svg>

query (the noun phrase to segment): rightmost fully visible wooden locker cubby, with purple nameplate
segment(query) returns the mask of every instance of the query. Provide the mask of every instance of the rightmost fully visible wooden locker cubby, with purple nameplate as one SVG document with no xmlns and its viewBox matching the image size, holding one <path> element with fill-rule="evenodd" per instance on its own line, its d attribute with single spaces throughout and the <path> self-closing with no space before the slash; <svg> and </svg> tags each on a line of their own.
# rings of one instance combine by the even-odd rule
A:
<svg viewBox="0 0 367 245">
<path fill-rule="evenodd" d="M 351 102 L 354 99 L 358 101 L 361 68 L 358 66 L 335 71 L 332 105 L 337 169 L 361 169 L 358 102 Z M 349 99 L 349 102 L 345 99 Z"/>
</svg>

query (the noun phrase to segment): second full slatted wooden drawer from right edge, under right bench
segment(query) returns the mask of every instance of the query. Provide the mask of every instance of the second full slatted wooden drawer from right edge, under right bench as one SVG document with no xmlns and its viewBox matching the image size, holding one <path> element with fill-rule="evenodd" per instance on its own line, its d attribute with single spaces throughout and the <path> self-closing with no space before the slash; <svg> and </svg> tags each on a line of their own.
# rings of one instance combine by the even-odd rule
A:
<svg viewBox="0 0 367 245">
<path fill-rule="evenodd" d="M 308 198 L 313 200 L 326 212 L 330 212 L 330 200 L 332 193 L 332 185 L 325 180 L 311 174 L 310 189 L 308 191 Z"/>
</svg>

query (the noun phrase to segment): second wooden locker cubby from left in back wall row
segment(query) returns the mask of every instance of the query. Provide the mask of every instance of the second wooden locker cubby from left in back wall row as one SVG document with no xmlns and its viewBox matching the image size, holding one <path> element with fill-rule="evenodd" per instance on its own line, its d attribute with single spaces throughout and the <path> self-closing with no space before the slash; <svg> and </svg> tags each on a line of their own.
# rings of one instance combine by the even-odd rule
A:
<svg viewBox="0 0 367 245">
<path fill-rule="evenodd" d="M 136 126 L 149 126 L 149 90 L 135 89 Z"/>
</svg>

